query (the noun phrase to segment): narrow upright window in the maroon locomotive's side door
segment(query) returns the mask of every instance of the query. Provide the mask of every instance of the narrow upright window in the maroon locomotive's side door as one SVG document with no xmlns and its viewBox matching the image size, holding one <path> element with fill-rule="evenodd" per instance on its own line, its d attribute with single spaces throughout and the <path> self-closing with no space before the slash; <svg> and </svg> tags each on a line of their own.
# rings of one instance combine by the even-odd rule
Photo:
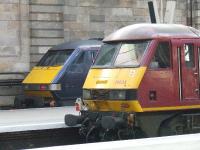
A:
<svg viewBox="0 0 200 150">
<path fill-rule="evenodd" d="M 187 68 L 194 67 L 194 46 L 193 44 L 184 44 L 185 65 Z"/>
</svg>

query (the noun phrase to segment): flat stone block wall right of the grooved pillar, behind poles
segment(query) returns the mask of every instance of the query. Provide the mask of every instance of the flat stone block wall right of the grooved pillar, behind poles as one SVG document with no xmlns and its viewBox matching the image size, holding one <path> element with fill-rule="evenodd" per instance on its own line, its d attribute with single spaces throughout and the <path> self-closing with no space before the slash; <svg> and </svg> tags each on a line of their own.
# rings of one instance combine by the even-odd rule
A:
<svg viewBox="0 0 200 150">
<path fill-rule="evenodd" d="M 65 0 L 64 39 L 103 38 L 123 26 L 150 22 L 148 1 Z M 163 0 L 164 3 L 166 1 Z M 186 2 L 177 0 L 174 23 L 186 24 Z"/>
</svg>

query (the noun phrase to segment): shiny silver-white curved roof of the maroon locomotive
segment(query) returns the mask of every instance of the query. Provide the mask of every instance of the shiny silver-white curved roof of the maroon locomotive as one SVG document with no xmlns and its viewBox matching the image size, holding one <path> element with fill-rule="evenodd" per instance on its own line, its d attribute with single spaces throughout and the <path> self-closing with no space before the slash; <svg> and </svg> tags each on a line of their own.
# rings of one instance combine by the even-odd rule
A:
<svg viewBox="0 0 200 150">
<path fill-rule="evenodd" d="M 155 38 L 199 38 L 200 31 L 180 24 L 133 24 L 107 36 L 103 41 L 127 41 Z"/>
</svg>

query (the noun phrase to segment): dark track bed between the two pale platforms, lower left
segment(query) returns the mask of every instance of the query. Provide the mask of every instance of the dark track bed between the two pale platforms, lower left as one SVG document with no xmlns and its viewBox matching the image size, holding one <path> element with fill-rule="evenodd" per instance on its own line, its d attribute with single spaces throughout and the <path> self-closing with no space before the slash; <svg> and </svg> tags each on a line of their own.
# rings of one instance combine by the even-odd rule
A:
<svg viewBox="0 0 200 150">
<path fill-rule="evenodd" d="M 0 149 L 16 150 L 83 143 L 78 128 L 59 128 L 0 134 Z"/>
</svg>

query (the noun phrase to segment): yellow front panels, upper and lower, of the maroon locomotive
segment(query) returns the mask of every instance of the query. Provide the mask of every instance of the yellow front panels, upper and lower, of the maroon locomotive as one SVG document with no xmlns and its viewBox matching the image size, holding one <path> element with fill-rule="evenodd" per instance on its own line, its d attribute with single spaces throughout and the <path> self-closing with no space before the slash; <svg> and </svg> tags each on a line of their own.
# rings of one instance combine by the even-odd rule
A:
<svg viewBox="0 0 200 150">
<path fill-rule="evenodd" d="M 84 90 L 100 92 L 102 90 L 137 90 L 144 76 L 146 67 L 115 68 L 115 69 L 90 69 Z M 103 94 L 103 93 L 102 93 Z M 143 112 L 138 99 L 110 100 L 110 99 L 84 99 L 91 111 L 123 111 Z"/>
</svg>

